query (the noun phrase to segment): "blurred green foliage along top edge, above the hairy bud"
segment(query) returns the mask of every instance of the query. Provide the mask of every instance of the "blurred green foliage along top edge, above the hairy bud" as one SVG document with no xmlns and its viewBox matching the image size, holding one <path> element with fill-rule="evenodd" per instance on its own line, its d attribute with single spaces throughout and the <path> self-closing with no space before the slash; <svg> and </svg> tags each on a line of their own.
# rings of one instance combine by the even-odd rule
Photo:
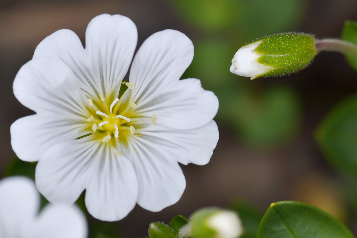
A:
<svg viewBox="0 0 357 238">
<path fill-rule="evenodd" d="M 178 16 L 196 29 L 232 31 L 241 40 L 292 30 L 302 18 L 302 0 L 177 0 Z M 246 42 L 245 42 L 246 43 Z"/>
</svg>

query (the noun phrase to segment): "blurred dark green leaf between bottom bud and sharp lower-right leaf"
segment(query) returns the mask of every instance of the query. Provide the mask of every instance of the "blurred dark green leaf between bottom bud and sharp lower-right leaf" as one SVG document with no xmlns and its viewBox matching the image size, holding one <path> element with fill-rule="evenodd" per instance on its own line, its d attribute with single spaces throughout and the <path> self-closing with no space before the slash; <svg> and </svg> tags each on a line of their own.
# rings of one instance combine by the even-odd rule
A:
<svg viewBox="0 0 357 238">
<path fill-rule="evenodd" d="M 263 213 L 244 203 L 237 203 L 232 209 L 238 212 L 242 221 L 243 234 L 240 238 L 256 238 Z"/>
</svg>

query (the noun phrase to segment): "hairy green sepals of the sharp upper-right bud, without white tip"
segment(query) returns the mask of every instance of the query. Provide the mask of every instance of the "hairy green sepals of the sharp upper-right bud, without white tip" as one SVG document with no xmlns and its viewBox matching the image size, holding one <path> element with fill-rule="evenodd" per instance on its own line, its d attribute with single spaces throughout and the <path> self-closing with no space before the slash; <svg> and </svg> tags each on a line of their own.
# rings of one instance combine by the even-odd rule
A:
<svg viewBox="0 0 357 238">
<path fill-rule="evenodd" d="M 262 41 L 255 49 L 260 55 L 258 63 L 271 66 L 272 70 L 255 78 L 291 74 L 302 70 L 317 53 L 314 36 L 306 33 L 281 33 L 257 41 Z"/>
</svg>

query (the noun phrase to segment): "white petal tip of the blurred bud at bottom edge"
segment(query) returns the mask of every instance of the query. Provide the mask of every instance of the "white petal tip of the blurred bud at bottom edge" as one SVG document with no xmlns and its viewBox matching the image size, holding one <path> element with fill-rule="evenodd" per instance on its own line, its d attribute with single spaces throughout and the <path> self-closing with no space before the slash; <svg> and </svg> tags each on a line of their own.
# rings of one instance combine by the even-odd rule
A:
<svg viewBox="0 0 357 238">
<path fill-rule="evenodd" d="M 215 230 L 216 238 L 237 238 L 243 233 L 242 222 L 237 213 L 220 211 L 211 216 L 207 225 Z"/>
</svg>

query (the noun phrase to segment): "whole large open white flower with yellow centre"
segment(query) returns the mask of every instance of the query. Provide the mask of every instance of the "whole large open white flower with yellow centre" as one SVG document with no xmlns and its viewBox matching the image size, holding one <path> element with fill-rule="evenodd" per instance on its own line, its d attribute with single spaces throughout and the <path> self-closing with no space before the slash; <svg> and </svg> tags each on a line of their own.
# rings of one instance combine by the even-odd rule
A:
<svg viewBox="0 0 357 238">
<path fill-rule="evenodd" d="M 11 145 L 22 160 L 39 161 L 36 186 L 50 202 L 72 204 L 85 189 L 89 213 L 101 220 L 122 219 L 136 203 L 160 211 L 185 189 L 177 162 L 210 160 L 217 97 L 198 79 L 179 80 L 192 42 L 175 30 L 153 34 L 122 84 L 136 43 L 129 18 L 103 14 L 89 23 L 85 49 L 59 30 L 17 73 L 14 94 L 36 114 L 12 124 Z"/>
</svg>

